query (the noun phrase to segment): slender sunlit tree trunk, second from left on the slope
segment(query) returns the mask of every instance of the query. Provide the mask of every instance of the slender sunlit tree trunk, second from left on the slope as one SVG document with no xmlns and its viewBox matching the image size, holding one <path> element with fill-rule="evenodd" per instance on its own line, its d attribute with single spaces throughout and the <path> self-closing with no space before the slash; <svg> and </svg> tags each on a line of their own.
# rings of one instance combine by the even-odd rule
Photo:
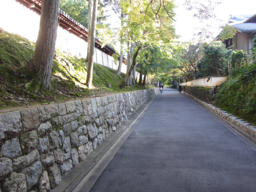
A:
<svg viewBox="0 0 256 192">
<path fill-rule="evenodd" d="M 92 30 L 90 32 L 90 55 L 88 60 L 86 86 L 92 88 L 92 72 L 93 72 L 93 56 L 94 56 L 94 46 L 95 46 L 95 36 L 96 36 L 96 22 L 97 22 L 97 12 L 98 12 L 98 0 L 93 0 L 93 10 L 92 10 Z"/>
</svg>

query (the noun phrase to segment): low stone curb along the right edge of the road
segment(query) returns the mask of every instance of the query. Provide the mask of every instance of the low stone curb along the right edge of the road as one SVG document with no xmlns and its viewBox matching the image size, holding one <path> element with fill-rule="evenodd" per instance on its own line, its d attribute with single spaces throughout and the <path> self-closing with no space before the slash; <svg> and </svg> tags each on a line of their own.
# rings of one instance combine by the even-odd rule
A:
<svg viewBox="0 0 256 192">
<path fill-rule="evenodd" d="M 229 124 L 232 128 L 246 136 L 246 138 L 250 139 L 252 142 L 256 143 L 256 127 L 250 126 L 250 123 L 244 122 L 242 119 L 239 119 L 232 114 L 229 114 L 228 112 L 215 107 L 212 104 L 208 104 L 195 96 L 192 96 L 185 92 L 187 96 L 195 100 L 197 103 L 199 103 L 201 106 L 206 108 L 208 111 L 210 111 L 212 114 L 220 118 L 221 120 L 224 120 L 227 124 Z"/>
</svg>

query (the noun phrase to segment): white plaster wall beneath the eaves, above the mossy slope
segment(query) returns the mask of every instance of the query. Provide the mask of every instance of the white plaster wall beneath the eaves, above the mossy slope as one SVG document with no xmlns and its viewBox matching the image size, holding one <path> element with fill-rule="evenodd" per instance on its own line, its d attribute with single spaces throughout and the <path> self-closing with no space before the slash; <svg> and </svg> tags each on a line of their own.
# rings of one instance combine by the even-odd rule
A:
<svg viewBox="0 0 256 192">
<path fill-rule="evenodd" d="M 0 28 L 36 42 L 40 23 L 40 15 L 36 14 L 36 12 L 24 7 L 15 0 L 0 0 L 0 18 Z M 86 58 L 87 55 L 87 42 L 61 27 L 58 27 L 57 30 L 56 48 L 82 58 Z M 107 56 L 98 48 L 95 48 L 95 50 L 95 63 L 117 69 L 118 66 L 114 64 L 112 56 Z M 121 71 L 126 72 L 125 64 L 122 65 Z"/>
</svg>

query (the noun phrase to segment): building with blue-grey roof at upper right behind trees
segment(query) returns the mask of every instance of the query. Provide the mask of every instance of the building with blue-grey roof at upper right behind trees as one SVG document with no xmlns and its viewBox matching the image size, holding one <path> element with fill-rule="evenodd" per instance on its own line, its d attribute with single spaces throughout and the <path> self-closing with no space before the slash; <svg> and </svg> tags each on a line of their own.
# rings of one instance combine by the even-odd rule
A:
<svg viewBox="0 0 256 192">
<path fill-rule="evenodd" d="M 254 45 L 253 39 L 256 35 L 256 14 L 230 15 L 228 25 L 233 26 L 237 33 L 233 38 L 225 40 L 226 48 L 231 48 L 232 46 L 233 50 L 245 50 L 250 54 L 250 49 Z"/>
</svg>

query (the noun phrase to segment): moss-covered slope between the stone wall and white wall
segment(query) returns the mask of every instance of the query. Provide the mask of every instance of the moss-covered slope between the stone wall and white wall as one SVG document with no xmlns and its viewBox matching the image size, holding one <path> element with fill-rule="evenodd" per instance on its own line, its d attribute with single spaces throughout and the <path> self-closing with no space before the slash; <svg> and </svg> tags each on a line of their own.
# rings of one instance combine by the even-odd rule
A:
<svg viewBox="0 0 256 192">
<path fill-rule="evenodd" d="M 34 48 L 34 43 L 0 29 L 0 109 L 145 89 L 142 86 L 120 89 L 122 78 L 116 76 L 114 70 L 94 64 L 94 88 L 89 90 L 84 86 L 85 60 L 56 50 L 51 90 L 40 91 L 36 74 L 30 74 L 24 67 L 32 59 Z M 107 84 L 111 84 L 111 88 Z"/>
</svg>

